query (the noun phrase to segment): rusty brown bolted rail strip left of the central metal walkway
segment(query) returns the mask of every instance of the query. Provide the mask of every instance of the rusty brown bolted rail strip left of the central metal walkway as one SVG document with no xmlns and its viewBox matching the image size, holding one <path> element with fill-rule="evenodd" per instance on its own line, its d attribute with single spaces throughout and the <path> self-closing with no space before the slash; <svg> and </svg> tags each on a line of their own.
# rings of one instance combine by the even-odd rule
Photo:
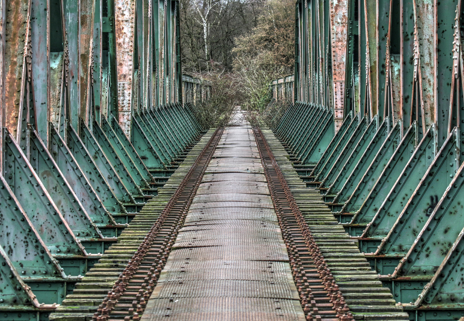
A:
<svg viewBox="0 0 464 321">
<path fill-rule="evenodd" d="M 140 319 L 223 130 L 214 132 L 92 320 Z"/>
</svg>

